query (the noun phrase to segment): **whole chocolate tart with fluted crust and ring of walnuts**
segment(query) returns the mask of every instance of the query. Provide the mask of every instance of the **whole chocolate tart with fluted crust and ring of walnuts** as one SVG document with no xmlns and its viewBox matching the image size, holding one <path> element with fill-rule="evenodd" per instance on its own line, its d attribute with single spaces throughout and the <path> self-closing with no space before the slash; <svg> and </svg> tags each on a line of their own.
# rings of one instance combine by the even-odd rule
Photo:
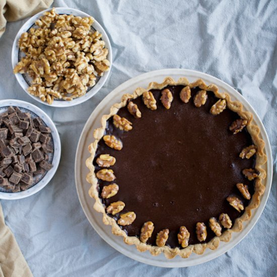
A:
<svg viewBox="0 0 277 277">
<path fill-rule="evenodd" d="M 167 258 L 217 249 L 260 203 L 264 142 L 252 114 L 202 80 L 165 78 L 122 96 L 86 166 L 103 223 Z"/>
</svg>

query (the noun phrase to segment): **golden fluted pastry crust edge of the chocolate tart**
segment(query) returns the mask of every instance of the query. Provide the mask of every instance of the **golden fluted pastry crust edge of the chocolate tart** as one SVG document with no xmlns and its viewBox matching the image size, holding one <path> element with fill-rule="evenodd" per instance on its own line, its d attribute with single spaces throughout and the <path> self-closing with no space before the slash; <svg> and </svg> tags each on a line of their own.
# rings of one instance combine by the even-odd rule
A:
<svg viewBox="0 0 277 277">
<path fill-rule="evenodd" d="M 186 248 L 179 249 L 171 248 L 169 246 L 153 246 L 146 243 L 143 243 L 137 237 L 128 236 L 116 223 L 116 221 L 109 217 L 106 214 L 105 207 L 103 206 L 101 199 L 99 198 L 98 192 L 98 180 L 94 172 L 93 160 L 95 158 L 95 153 L 97 149 L 98 142 L 101 140 L 104 135 L 107 120 L 115 115 L 118 110 L 124 106 L 126 106 L 127 101 L 129 99 L 135 99 L 140 97 L 144 92 L 158 89 L 161 90 L 167 86 L 189 86 L 190 88 L 199 87 L 201 90 L 211 91 L 215 94 L 215 96 L 219 99 L 225 99 L 227 102 L 227 107 L 236 112 L 242 119 L 247 120 L 247 131 L 250 133 L 252 137 L 252 141 L 254 145 L 257 147 L 256 151 L 256 164 L 255 169 L 259 172 L 259 176 L 255 179 L 255 192 L 252 195 L 251 201 L 248 206 L 245 207 L 245 211 L 243 215 L 235 220 L 235 223 L 231 229 L 226 230 L 219 237 L 214 237 L 211 241 L 207 243 L 198 243 L 193 245 L 188 245 Z M 103 223 L 106 225 L 112 226 L 112 233 L 117 236 L 122 236 L 123 240 L 126 244 L 132 245 L 134 244 L 138 251 L 144 252 L 149 250 L 150 253 L 154 256 L 159 255 L 160 253 L 164 253 L 165 257 L 168 259 L 174 258 L 176 255 L 181 256 L 182 258 L 187 258 L 190 256 L 192 252 L 196 254 L 202 254 L 206 248 L 210 248 L 211 250 L 215 250 L 218 248 L 220 241 L 228 242 L 231 239 L 232 232 L 240 232 L 243 229 L 243 222 L 248 221 L 251 218 L 251 210 L 258 207 L 260 203 L 260 197 L 264 192 L 263 180 L 266 177 L 265 170 L 262 169 L 262 166 L 266 163 L 266 155 L 263 151 L 264 149 L 264 141 L 259 137 L 260 129 L 257 125 L 252 123 L 253 116 L 250 112 L 243 110 L 243 105 L 239 101 L 231 101 L 231 97 L 228 93 L 220 93 L 218 87 L 216 85 L 206 85 L 203 80 L 198 79 L 193 83 L 189 83 L 185 77 L 180 78 L 177 82 L 175 82 L 171 77 L 167 77 L 164 81 L 159 84 L 156 82 L 152 82 L 149 84 L 147 89 L 137 88 L 133 94 L 124 94 L 121 98 L 120 103 L 116 103 L 111 106 L 110 113 L 108 115 L 103 115 L 101 118 L 102 127 L 94 130 L 95 141 L 89 145 L 89 152 L 91 156 L 86 160 L 86 166 L 89 168 L 90 173 L 87 175 L 87 181 L 91 184 L 91 188 L 89 189 L 89 194 L 91 197 L 95 198 L 96 202 L 94 204 L 94 209 L 103 214 Z"/>
</svg>

